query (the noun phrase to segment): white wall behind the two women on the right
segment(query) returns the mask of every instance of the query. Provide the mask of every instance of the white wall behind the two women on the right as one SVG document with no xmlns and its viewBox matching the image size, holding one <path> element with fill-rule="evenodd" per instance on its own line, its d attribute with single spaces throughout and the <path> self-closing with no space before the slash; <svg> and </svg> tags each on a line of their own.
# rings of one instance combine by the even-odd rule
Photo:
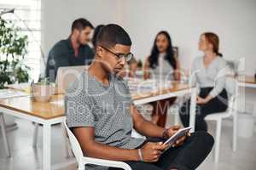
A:
<svg viewBox="0 0 256 170">
<path fill-rule="evenodd" d="M 216 32 L 225 58 L 246 57 L 247 73 L 253 74 L 256 57 L 255 0 L 130 0 L 123 1 L 124 26 L 134 42 L 137 57 L 150 52 L 158 31 L 169 31 L 180 49 L 183 68 L 200 53 L 202 32 Z"/>
</svg>

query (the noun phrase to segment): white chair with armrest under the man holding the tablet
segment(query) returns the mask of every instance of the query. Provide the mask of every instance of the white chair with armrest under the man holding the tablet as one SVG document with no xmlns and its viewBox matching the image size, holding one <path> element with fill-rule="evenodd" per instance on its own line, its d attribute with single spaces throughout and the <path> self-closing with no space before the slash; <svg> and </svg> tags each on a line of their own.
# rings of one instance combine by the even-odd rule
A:
<svg viewBox="0 0 256 170">
<path fill-rule="evenodd" d="M 83 151 L 81 150 L 79 141 L 73 135 L 71 130 L 67 127 L 66 118 L 64 120 L 64 126 L 66 127 L 66 130 L 67 130 L 67 135 L 71 143 L 73 154 L 75 155 L 77 161 L 79 162 L 79 170 L 85 170 L 86 164 L 94 164 L 94 165 L 99 165 L 104 167 L 119 167 L 125 170 L 131 170 L 131 167 L 122 161 L 109 161 L 109 160 L 103 160 L 103 159 L 84 156 Z"/>
</svg>

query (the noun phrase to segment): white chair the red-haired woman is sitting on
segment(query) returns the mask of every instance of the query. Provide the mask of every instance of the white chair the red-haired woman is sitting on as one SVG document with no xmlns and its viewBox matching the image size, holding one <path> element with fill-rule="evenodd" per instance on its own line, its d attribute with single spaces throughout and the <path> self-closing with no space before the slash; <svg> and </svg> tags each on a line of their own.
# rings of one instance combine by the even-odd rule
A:
<svg viewBox="0 0 256 170">
<path fill-rule="evenodd" d="M 233 151 L 236 151 L 236 138 L 237 138 L 237 95 L 238 95 L 238 85 L 234 78 L 227 78 L 225 88 L 228 94 L 231 94 L 228 101 L 227 111 L 214 113 L 205 117 L 206 121 L 216 122 L 216 136 L 215 136 L 215 153 L 214 161 L 218 162 L 219 147 L 220 147 L 220 137 L 221 137 L 221 126 L 222 120 L 227 117 L 233 117 Z"/>
</svg>

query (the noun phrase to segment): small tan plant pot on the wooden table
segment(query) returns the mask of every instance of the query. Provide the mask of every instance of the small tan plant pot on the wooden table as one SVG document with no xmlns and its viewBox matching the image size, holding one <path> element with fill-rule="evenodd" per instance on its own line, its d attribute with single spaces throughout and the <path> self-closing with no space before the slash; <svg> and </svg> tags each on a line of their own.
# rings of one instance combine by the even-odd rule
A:
<svg viewBox="0 0 256 170">
<path fill-rule="evenodd" d="M 52 94 L 54 94 L 54 88 L 52 85 L 32 85 L 32 97 L 35 101 L 49 102 Z"/>
</svg>

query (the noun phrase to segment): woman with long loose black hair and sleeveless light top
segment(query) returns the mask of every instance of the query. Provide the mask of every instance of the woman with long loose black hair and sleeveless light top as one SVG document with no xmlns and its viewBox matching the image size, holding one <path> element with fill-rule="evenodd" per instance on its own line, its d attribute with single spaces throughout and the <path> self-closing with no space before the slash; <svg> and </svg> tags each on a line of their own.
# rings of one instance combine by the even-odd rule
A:
<svg viewBox="0 0 256 170">
<path fill-rule="evenodd" d="M 144 79 L 154 78 L 162 83 L 166 80 L 179 80 L 179 70 L 180 65 L 172 48 L 171 37 L 167 31 L 160 31 L 154 39 L 151 54 L 145 61 Z M 152 122 L 160 127 L 165 127 L 166 113 L 174 100 L 175 98 L 153 102 Z"/>
</svg>

